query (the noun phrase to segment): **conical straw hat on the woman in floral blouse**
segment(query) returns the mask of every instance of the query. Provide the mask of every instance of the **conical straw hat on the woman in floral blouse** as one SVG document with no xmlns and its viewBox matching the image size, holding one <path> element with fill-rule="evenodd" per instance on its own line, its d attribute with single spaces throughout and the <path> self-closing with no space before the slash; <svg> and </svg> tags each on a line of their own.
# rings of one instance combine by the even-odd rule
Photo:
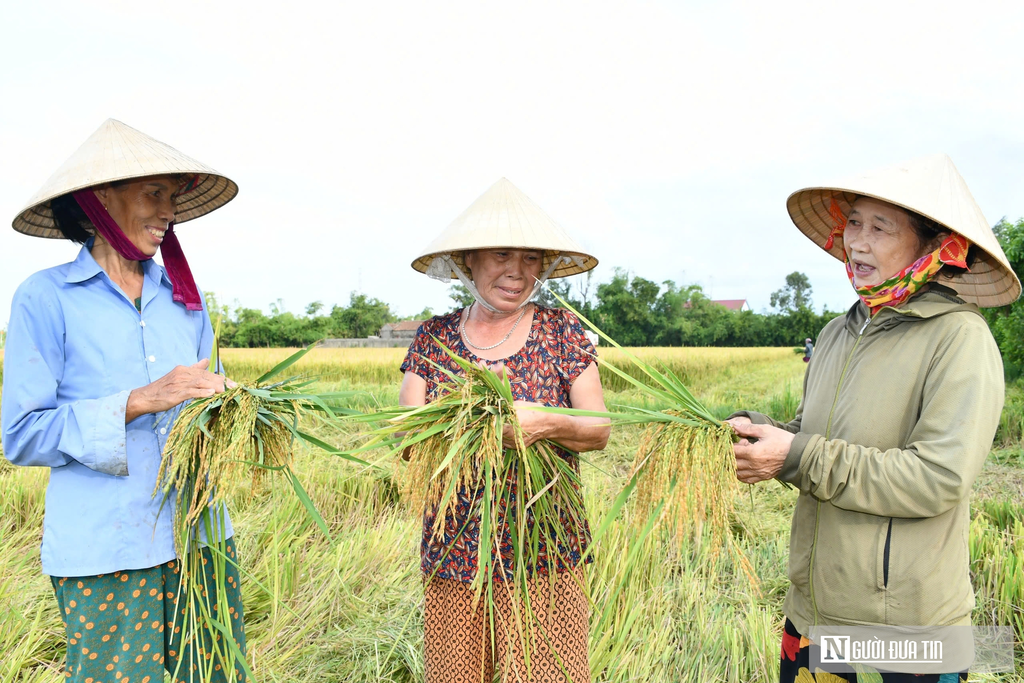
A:
<svg viewBox="0 0 1024 683">
<path fill-rule="evenodd" d="M 450 254 L 456 265 L 466 270 L 463 252 L 469 249 L 544 250 L 544 270 L 557 254 L 575 257 L 564 260 L 549 275 L 565 278 L 587 272 L 597 265 L 588 254 L 518 187 L 502 178 L 480 195 L 468 209 L 444 228 L 413 261 L 413 267 L 427 272 L 436 256 Z M 456 275 L 453 273 L 452 279 Z"/>
</svg>

